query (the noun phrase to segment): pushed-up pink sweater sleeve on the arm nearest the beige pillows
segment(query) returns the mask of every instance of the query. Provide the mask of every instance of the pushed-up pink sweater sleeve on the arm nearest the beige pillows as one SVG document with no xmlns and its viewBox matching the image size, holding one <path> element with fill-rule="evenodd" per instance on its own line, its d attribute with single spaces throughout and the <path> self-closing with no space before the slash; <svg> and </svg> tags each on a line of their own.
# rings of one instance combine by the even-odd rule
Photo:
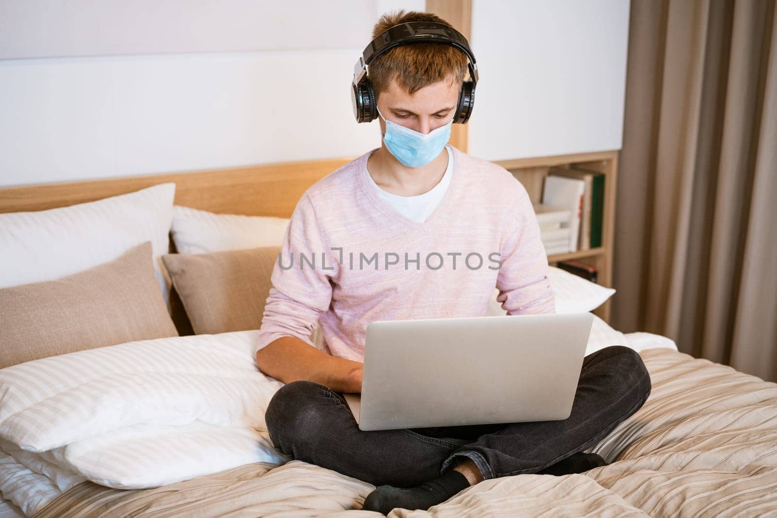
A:
<svg viewBox="0 0 777 518">
<path fill-rule="evenodd" d="M 326 244 L 307 193 L 291 214 L 279 259 L 270 277 L 272 287 L 256 351 L 282 336 L 294 336 L 313 345 L 310 334 L 332 300 L 332 279 L 340 265 Z"/>
</svg>

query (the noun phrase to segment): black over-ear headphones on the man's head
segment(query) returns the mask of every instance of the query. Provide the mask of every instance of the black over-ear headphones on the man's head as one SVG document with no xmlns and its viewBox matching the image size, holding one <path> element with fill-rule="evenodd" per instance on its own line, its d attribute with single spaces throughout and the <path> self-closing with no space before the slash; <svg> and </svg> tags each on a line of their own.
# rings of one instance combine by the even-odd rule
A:
<svg viewBox="0 0 777 518">
<path fill-rule="evenodd" d="M 351 83 L 351 103 L 357 122 L 370 122 L 378 116 L 375 90 L 368 78 L 368 66 L 376 57 L 385 54 L 394 47 L 409 43 L 445 43 L 462 50 L 469 57 L 469 75 L 471 79 L 462 85 L 458 95 L 455 123 L 465 124 L 472 115 L 475 104 L 475 85 L 478 83 L 478 65 L 475 55 L 469 49 L 467 39 L 451 26 L 434 22 L 400 23 L 380 34 L 364 49 L 354 67 L 354 81 Z"/>
</svg>

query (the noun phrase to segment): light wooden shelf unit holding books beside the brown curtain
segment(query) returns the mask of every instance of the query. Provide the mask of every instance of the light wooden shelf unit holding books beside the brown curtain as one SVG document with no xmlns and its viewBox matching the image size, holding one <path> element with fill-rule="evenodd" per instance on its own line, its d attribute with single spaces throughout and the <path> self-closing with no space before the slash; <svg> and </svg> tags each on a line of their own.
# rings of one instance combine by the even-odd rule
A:
<svg viewBox="0 0 777 518">
<path fill-rule="evenodd" d="M 542 183 L 548 170 L 554 165 L 577 165 L 584 169 L 605 173 L 605 214 L 602 223 L 601 247 L 552 254 L 548 262 L 556 266 L 561 261 L 571 259 L 584 262 L 598 269 L 598 283 L 601 286 L 612 287 L 612 242 L 615 232 L 615 192 L 618 181 L 618 151 L 597 151 L 593 153 L 577 153 L 574 155 L 557 155 L 541 158 L 517 158 L 515 160 L 497 160 L 494 163 L 507 169 L 520 181 L 531 198 L 532 203 L 539 203 L 542 198 Z M 610 322 L 611 300 L 594 310 L 594 315 Z"/>
</svg>

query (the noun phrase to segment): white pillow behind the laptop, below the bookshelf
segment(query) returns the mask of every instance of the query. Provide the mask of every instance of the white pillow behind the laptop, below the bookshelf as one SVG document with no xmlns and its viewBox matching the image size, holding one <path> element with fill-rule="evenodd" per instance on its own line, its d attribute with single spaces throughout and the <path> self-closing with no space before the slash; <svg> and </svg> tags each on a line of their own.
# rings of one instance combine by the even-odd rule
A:
<svg viewBox="0 0 777 518">
<path fill-rule="evenodd" d="M 556 266 L 549 266 L 548 280 L 553 293 L 556 294 L 556 313 L 594 311 L 615 293 L 612 288 L 599 286 Z M 507 315 L 507 311 L 502 309 L 502 304 L 497 302 L 497 295 L 499 290 L 494 288 L 486 315 Z"/>
</svg>

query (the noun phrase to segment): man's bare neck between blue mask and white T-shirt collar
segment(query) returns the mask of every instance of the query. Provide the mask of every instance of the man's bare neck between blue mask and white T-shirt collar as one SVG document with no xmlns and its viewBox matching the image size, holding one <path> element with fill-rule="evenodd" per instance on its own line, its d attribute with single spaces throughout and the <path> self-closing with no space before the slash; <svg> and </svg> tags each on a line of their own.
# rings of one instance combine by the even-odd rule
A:
<svg viewBox="0 0 777 518">
<path fill-rule="evenodd" d="M 440 183 L 448 169 L 448 150 L 422 167 L 406 167 L 381 145 L 367 160 L 367 171 L 372 180 L 388 193 L 399 196 L 417 196 L 427 193 Z"/>
</svg>

